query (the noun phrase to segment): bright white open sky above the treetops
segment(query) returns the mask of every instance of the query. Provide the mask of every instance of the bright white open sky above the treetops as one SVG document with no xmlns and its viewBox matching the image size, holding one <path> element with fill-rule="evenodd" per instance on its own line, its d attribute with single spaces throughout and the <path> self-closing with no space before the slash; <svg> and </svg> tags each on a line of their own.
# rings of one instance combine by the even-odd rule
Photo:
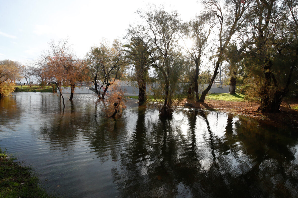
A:
<svg viewBox="0 0 298 198">
<path fill-rule="evenodd" d="M 197 0 L 0 0 L 0 60 L 25 64 L 47 50 L 52 39 L 66 38 L 83 58 L 103 38 L 122 39 L 139 18 L 135 12 L 150 4 L 177 10 L 183 20 L 201 10 Z"/>
</svg>

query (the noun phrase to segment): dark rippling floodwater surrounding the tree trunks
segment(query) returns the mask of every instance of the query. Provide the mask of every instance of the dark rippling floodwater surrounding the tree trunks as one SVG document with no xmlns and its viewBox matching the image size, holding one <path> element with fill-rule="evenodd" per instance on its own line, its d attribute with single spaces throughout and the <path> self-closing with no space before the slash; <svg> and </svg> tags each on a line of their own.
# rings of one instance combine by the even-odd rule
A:
<svg viewBox="0 0 298 198">
<path fill-rule="evenodd" d="M 0 146 L 64 197 L 298 197 L 294 129 L 213 111 L 170 120 L 130 99 L 104 118 L 91 94 L 0 99 Z"/>
</svg>

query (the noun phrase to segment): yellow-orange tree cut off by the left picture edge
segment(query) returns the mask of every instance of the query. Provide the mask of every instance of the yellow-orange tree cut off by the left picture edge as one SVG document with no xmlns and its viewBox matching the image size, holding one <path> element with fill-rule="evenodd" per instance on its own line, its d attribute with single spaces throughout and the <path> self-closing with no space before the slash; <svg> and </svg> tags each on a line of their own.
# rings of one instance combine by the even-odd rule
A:
<svg viewBox="0 0 298 198">
<path fill-rule="evenodd" d="M 0 97 L 9 96 L 15 90 L 15 80 L 20 76 L 20 64 L 16 61 L 0 61 Z"/>
</svg>

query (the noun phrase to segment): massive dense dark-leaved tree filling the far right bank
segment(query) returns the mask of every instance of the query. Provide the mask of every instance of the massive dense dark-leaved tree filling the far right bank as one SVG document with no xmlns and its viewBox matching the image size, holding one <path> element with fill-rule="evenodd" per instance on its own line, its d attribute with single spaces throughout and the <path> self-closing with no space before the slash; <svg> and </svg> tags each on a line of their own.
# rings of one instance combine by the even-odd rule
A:
<svg viewBox="0 0 298 198">
<path fill-rule="evenodd" d="M 297 82 L 296 1 L 255 1 L 246 37 L 246 70 L 250 98 L 260 101 L 263 113 L 279 112 L 291 85 Z"/>
</svg>

